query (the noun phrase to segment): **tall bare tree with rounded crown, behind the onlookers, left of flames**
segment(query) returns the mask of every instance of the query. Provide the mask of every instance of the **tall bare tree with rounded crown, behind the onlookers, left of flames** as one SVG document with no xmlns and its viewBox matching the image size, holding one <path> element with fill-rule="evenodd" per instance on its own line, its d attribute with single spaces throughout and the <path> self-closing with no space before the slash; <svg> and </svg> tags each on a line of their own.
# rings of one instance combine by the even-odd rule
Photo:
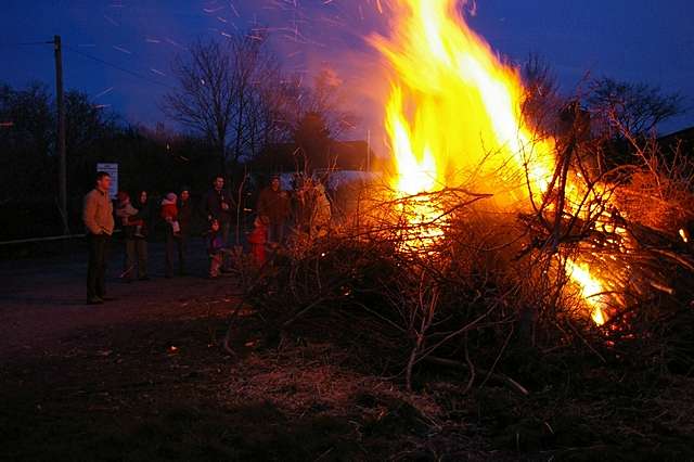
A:
<svg viewBox="0 0 694 462">
<path fill-rule="evenodd" d="M 172 119 L 202 133 L 219 153 L 222 171 L 236 170 L 286 131 L 282 114 L 291 112 L 287 79 L 264 29 L 237 34 L 223 42 L 196 42 L 175 64 L 179 89 L 164 110 Z"/>
</svg>

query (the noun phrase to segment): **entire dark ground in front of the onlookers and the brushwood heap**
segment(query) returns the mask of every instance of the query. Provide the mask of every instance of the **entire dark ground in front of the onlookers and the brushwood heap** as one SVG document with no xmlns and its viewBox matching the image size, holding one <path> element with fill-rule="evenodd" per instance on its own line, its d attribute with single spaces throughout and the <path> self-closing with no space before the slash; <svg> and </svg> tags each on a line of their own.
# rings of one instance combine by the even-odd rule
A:
<svg viewBox="0 0 694 462">
<path fill-rule="evenodd" d="M 250 307 L 230 356 L 233 278 L 203 277 L 201 243 L 185 278 L 151 251 L 130 284 L 112 252 L 102 306 L 83 305 L 81 247 L 0 262 L 1 459 L 694 460 L 689 377 L 586 364 L 524 397 L 430 372 L 406 393 L 320 335 L 269 344 Z"/>
</svg>

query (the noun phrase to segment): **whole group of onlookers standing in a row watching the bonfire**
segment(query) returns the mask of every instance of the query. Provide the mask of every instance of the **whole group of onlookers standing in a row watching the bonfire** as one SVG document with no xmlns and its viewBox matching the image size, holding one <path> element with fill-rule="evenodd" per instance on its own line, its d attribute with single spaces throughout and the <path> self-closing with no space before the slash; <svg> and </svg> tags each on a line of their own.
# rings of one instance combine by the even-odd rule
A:
<svg viewBox="0 0 694 462">
<path fill-rule="evenodd" d="M 188 244 L 192 235 L 195 216 L 206 223 L 203 233 L 209 257 L 209 278 L 217 278 L 226 270 L 233 201 L 224 190 L 224 179 L 218 176 L 213 189 L 205 195 L 201 207 L 194 209 L 190 188 L 183 187 L 179 194 L 169 192 L 155 204 L 146 191 L 140 191 L 134 200 L 120 191 L 116 204 L 108 191 L 111 177 L 100 171 L 95 185 L 85 196 L 82 219 L 87 229 L 89 265 L 87 274 L 88 304 L 107 300 L 105 290 L 106 253 L 116 222 L 121 227 L 125 241 L 125 266 L 121 279 L 126 282 L 149 280 L 147 236 L 155 221 L 164 222 L 165 277 L 172 278 L 175 260 L 178 272 L 185 275 L 188 268 Z M 269 187 L 260 191 L 254 229 L 247 235 L 250 255 L 259 267 L 266 264 L 267 248 L 277 248 L 286 241 L 287 230 L 296 234 L 319 236 L 324 234 L 331 219 L 331 205 L 320 181 L 295 178 L 293 191 L 281 188 L 280 177 L 272 177 Z"/>
</svg>

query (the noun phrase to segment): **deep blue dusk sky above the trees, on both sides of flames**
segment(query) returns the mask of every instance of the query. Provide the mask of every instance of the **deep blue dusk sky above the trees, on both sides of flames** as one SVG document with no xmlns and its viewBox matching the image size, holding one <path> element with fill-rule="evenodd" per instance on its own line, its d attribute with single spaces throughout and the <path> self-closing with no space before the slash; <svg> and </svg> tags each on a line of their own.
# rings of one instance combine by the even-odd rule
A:
<svg viewBox="0 0 694 462">
<path fill-rule="evenodd" d="M 170 60 L 196 37 L 261 24 L 273 30 L 287 67 L 310 72 L 327 62 L 348 82 L 350 63 L 368 62 L 363 37 L 386 25 L 376 0 L 2 0 L 0 11 L 0 81 L 41 80 L 53 89 L 51 47 L 15 43 L 60 34 L 66 87 L 145 125 L 163 120 L 157 104 L 174 85 Z M 543 55 L 567 92 L 590 73 L 680 91 L 691 103 L 693 17 L 691 0 L 478 0 L 470 24 L 511 61 Z M 364 127 L 377 124 L 360 115 Z M 692 125 L 690 112 L 660 131 Z M 352 138 L 363 138 L 364 127 Z"/>
</svg>

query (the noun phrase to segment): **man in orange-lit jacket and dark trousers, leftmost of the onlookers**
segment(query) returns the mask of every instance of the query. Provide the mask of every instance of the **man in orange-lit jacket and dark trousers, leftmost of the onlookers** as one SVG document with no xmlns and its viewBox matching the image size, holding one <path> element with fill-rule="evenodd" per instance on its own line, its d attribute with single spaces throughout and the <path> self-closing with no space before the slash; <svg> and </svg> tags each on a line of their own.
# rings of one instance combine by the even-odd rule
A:
<svg viewBox="0 0 694 462">
<path fill-rule="evenodd" d="M 85 196 L 82 221 L 87 228 L 89 262 L 87 267 L 87 303 L 103 304 L 106 297 L 106 253 L 113 234 L 113 204 L 108 197 L 111 176 L 97 174 L 97 183 Z"/>
</svg>

